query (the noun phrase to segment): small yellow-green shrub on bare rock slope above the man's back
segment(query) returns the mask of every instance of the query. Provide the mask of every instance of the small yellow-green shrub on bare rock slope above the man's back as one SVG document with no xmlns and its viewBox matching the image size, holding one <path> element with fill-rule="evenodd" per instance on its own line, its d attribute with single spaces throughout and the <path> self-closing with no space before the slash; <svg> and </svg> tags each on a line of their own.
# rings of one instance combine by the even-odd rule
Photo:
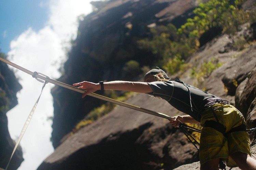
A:
<svg viewBox="0 0 256 170">
<path fill-rule="evenodd" d="M 207 63 L 204 62 L 198 69 L 193 67 L 190 76 L 196 78 L 198 84 L 200 84 L 205 78 L 208 78 L 215 69 L 221 66 L 222 63 L 219 63 L 218 58 L 212 58 L 211 61 Z"/>
</svg>

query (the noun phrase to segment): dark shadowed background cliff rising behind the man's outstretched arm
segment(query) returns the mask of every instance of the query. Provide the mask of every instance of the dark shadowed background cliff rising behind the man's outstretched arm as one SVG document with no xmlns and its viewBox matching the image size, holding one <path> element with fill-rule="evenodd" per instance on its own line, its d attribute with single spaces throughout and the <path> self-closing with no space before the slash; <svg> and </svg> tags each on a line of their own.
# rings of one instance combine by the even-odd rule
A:
<svg viewBox="0 0 256 170">
<path fill-rule="evenodd" d="M 139 49 L 137 40 L 148 35 L 150 25 L 171 22 L 179 28 L 191 16 L 197 1 L 111 0 L 93 4 L 98 11 L 80 22 L 77 39 L 64 66 L 65 73 L 59 78 L 61 82 L 98 83 L 138 77 L 141 67 L 152 66 L 159 58 Z M 126 63 L 132 60 L 139 63 L 139 69 L 127 71 Z M 56 148 L 84 115 L 104 102 L 92 98 L 81 100 L 80 94 L 62 87 L 55 87 L 52 95 L 52 141 Z"/>
</svg>

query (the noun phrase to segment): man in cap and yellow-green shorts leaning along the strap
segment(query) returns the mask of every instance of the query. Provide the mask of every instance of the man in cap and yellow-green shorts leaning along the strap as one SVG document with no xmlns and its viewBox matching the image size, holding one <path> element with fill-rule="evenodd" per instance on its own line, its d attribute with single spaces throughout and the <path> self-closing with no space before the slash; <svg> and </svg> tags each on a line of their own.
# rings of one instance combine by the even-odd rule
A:
<svg viewBox="0 0 256 170">
<path fill-rule="evenodd" d="M 152 69 L 144 76 L 144 82 L 80 82 L 73 84 L 87 91 L 82 97 L 96 90 L 125 90 L 140 92 L 165 99 L 185 116 L 176 116 L 170 121 L 174 127 L 182 123 L 202 125 L 200 138 L 200 169 L 218 169 L 220 160 L 229 167 L 256 169 L 256 160 L 251 158 L 249 136 L 243 115 L 228 101 L 206 91 L 173 81 L 161 69 Z"/>
</svg>

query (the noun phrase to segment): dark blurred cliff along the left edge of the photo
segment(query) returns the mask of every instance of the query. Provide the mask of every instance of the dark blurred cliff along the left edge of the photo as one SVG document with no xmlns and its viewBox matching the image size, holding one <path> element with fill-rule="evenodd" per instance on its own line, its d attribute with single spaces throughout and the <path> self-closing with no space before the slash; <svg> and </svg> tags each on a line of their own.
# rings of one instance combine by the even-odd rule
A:
<svg viewBox="0 0 256 170">
<path fill-rule="evenodd" d="M 9 162 L 15 142 L 8 131 L 6 112 L 18 104 L 16 93 L 22 89 L 14 73 L 7 64 L 0 62 L 0 168 L 5 168 Z M 10 162 L 10 170 L 18 169 L 23 162 L 22 150 L 19 147 Z"/>
</svg>

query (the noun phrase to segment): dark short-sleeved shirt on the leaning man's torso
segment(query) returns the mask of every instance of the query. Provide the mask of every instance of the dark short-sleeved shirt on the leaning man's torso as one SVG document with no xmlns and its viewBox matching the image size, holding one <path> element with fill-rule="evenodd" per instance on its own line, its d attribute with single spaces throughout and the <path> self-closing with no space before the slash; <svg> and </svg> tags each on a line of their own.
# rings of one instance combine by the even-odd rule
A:
<svg viewBox="0 0 256 170">
<path fill-rule="evenodd" d="M 185 84 L 179 79 L 164 82 L 156 81 L 148 84 L 153 89 L 153 93 L 149 93 L 149 95 L 165 99 L 173 107 L 190 115 L 199 122 L 201 119 L 199 112 L 204 107 L 204 101 L 208 98 L 217 97 L 204 90 Z"/>
</svg>

